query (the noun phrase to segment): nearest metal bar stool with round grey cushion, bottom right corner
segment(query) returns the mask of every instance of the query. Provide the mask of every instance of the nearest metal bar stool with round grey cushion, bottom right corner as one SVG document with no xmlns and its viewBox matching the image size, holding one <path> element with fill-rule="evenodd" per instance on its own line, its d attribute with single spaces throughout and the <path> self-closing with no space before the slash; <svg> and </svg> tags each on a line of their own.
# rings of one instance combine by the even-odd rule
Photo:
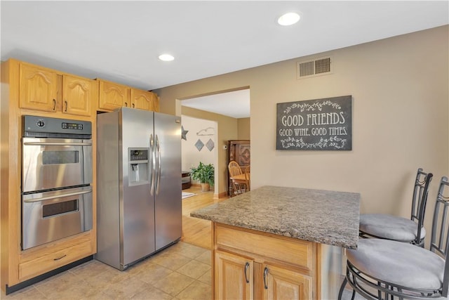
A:
<svg viewBox="0 0 449 300">
<path fill-rule="evenodd" d="M 366 299 L 434 299 L 448 296 L 449 222 L 447 177 L 441 178 L 432 223 L 430 250 L 382 239 L 361 239 L 357 249 L 346 249 L 347 283 Z"/>
</svg>

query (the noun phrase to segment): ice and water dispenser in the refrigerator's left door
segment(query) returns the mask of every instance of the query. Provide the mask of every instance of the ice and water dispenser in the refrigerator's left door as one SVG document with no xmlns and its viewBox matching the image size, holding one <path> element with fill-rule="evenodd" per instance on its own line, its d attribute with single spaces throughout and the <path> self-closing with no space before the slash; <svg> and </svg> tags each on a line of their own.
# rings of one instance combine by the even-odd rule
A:
<svg viewBox="0 0 449 300">
<path fill-rule="evenodd" d="M 149 183 L 148 148 L 128 148 L 128 151 L 129 185 Z"/>
</svg>

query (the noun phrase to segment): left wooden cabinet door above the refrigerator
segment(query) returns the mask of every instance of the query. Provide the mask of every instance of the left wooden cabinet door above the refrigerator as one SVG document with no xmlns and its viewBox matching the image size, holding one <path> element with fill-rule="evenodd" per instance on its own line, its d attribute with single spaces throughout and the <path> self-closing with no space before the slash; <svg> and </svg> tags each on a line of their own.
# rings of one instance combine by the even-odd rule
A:
<svg viewBox="0 0 449 300">
<path fill-rule="evenodd" d="M 100 99 L 98 107 L 103 110 L 115 110 L 130 107 L 130 88 L 121 84 L 100 80 Z"/>
</svg>

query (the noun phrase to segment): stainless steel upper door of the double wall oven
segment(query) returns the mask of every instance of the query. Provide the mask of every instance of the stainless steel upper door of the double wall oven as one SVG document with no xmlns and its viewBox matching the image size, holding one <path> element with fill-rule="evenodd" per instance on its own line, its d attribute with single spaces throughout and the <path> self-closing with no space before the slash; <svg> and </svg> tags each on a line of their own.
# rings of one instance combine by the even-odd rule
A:
<svg viewBox="0 0 449 300">
<path fill-rule="evenodd" d="M 92 183 L 92 140 L 22 138 L 22 192 Z"/>
</svg>

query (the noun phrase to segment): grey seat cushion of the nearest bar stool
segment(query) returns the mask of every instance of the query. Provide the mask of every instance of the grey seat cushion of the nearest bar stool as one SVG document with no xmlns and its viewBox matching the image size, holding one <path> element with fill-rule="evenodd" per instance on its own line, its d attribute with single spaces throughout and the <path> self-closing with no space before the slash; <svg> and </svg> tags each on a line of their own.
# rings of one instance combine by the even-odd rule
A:
<svg viewBox="0 0 449 300">
<path fill-rule="evenodd" d="M 427 249 L 380 239 L 360 239 L 347 259 L 362 273 L 405 287 L 441 289 L 445 261 Z"/>
</svg>

